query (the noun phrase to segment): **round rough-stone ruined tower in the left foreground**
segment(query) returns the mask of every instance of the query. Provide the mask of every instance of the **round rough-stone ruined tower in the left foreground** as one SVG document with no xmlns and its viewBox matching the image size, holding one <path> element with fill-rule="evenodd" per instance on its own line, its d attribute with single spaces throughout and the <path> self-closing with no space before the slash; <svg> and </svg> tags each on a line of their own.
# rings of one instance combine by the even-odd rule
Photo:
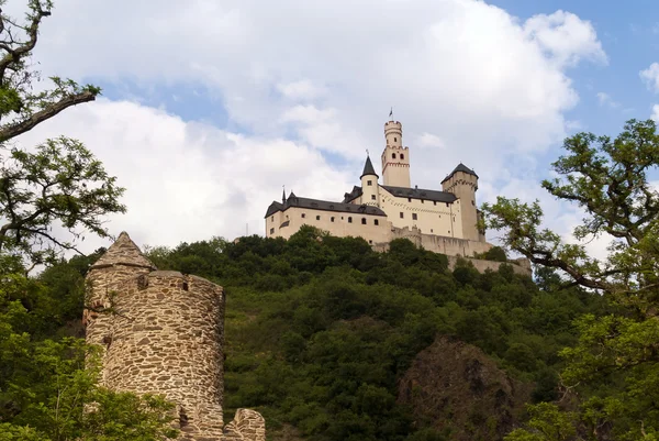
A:
<svg viewBox="0 0 659 441">
<path fill-rule="evenodd" d="M 176 403 L 181 439 L 264 441 L 265 421 L 238 409 L 223 422 L 224 290 L 157 271 L 122 232 L 87 276 L 86 338 L 102 348 L 103 386 Z M 103 311 L 104 310 L 104 311 Z"/>
</svg>

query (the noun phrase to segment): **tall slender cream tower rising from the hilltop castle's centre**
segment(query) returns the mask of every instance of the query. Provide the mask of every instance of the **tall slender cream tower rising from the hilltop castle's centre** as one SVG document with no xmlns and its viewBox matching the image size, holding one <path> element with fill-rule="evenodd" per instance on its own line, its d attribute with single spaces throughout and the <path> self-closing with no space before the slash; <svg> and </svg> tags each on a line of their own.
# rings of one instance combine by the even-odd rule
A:
<svg viewBox="0 0 659 441">
<path fill-rule="evenodd" d="M 403 147 L 403 125 L 398 121 L 384 124 L 387 146 L 382 152 L 384 185 L 410 188 L 410 152 Z"/>
</svg>

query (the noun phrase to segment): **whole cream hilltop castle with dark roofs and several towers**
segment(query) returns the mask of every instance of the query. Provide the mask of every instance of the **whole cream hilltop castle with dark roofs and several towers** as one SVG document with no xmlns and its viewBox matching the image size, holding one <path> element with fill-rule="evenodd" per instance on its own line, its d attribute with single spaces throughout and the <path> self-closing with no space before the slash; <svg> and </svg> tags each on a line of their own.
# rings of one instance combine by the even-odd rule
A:
<svg viewBox="0 0 659 441">
<path fill-rule="evenodd" d="M 361 186 L 340 202 L 284 192 L 281 202 L 273 201 L 266 211 L 266 236 L 288 239 L 308 224 L 336 236 L 364 238 L 376 250 L 387 250 L 398 238 L 448 256 L 470 257 L 490 250 L 477 227 L 478 175 L 460 163 L 442 180 L 442 190 L 412 188 L 402 124 L 387 122 L 384 139 L 382 184 L 367 156 Z"/>
</svg>

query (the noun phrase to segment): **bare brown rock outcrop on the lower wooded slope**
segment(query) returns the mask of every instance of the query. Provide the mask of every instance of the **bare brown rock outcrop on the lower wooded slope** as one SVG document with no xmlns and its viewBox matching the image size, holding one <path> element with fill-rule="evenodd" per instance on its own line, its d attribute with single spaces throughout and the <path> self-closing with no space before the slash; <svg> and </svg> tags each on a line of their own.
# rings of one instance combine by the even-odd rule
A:
<svg viewBox="0 0 659 441">
<path fill-rule="evenodd" d="M 412 407 L 418 426 L 450 431 L 453 441 L 496 441 L 513 428 L 532 389 L 480 349 L 440 337 L 416 355 L 398 399 Z"/>
</svg>

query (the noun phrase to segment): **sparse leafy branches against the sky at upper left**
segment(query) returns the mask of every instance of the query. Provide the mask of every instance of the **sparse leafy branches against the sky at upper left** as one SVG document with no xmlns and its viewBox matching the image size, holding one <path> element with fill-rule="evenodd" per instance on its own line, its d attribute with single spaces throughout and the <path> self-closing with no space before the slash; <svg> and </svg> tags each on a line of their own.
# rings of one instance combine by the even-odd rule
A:
<svg viewBox="0 0 659 441">
<path fill-rule="evenodd" d="M 51 0 L 29 0 L 24 22 L 0 15 L 0 252 L 22 253 L 34 263 L 76 250 L 53 227 L 62 224 L 74 239 L 83 239 L 80 228 L 107 236 L 103 217 L 125 211 L 119 203 L 123 188 L 79 141 L 49 139 L 33 152 L 12 143 L 101 91 L 59 77 L 49 78 L 51 89 L 33 91 L 40 73 L 30 63 L 32 51 L 52 8 Z"/>
</svg>

